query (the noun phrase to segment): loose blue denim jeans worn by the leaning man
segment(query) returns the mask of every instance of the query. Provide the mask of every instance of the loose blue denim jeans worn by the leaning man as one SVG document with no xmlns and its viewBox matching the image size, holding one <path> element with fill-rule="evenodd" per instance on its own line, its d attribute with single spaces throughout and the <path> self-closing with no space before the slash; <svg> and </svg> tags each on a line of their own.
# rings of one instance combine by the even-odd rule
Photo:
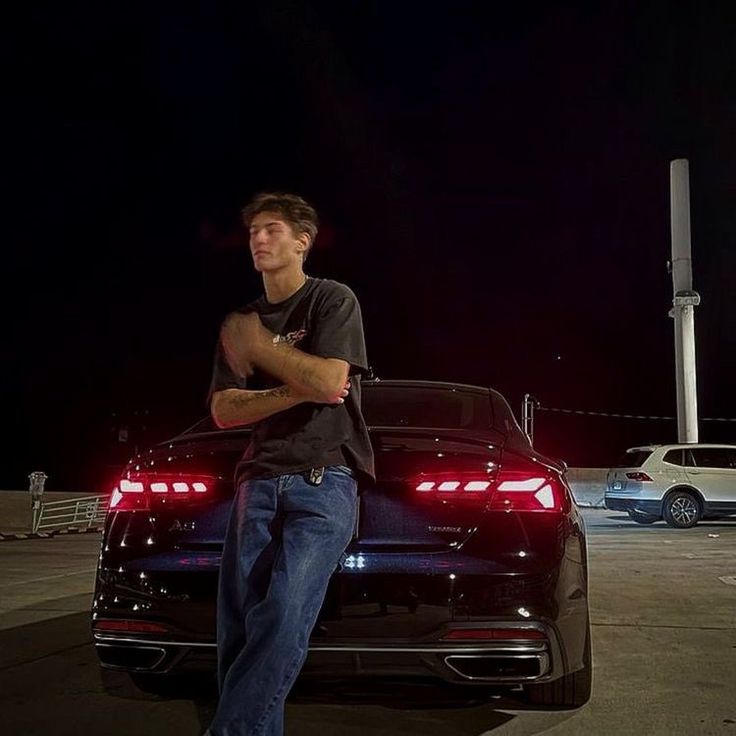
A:
<svg viewBox="0 0 736 736">
<path fill-rule="evenodd" d="M 284 701 L 307 657 L 327 585 L 355 526 L 349 468 L 241 483 L 217 596 L 220 699 L 213 736 L 282 736 Z"/>
</svg>

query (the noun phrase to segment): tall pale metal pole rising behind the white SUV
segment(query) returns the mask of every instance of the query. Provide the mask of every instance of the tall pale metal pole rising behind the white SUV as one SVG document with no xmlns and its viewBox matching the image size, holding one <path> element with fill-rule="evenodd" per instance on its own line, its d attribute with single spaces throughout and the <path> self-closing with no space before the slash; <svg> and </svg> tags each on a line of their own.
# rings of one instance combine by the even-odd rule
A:
<svg viewBox="0 0 736 736">
<path fill-rule="evenodd" d="M 672 228 L 672 309 L 675 320 L 678 442 L 698 441 L 698 393 L 695 380 L 695 307 L 690 247 L 690 173 L 686 158 L 670 162 Z"/>
</svg>

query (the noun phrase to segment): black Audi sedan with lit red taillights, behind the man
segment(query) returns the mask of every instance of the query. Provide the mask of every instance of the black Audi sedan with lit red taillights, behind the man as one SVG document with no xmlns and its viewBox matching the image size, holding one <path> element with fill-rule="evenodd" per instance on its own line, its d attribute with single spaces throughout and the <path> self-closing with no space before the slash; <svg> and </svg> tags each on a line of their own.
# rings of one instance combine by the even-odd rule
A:
<svg viewBox="0 0 736 736">
<path fill-rule="evenodd" d="M 496 391 L 367 381 L 377 481 L 303 676 L 429 675 L 576 707 L 592 665 L 585 529 L 560 461 Z M 136 457 L 110 500 L 92 608 L 103 667 L 155 687 L 216 663 L 215 604 L 247 428 L 202 420 Z"/>
</svg>

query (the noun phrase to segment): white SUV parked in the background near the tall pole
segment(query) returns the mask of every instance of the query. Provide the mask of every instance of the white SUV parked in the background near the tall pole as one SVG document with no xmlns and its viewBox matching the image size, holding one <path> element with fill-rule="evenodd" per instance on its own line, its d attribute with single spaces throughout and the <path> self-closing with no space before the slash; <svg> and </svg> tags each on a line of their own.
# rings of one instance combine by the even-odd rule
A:
<svg viewBox="0 0 736 736">
<path fill-rule="evenodd" d="M 606 508 L 639 524 L 686 529 L 736 514 L 736 446 L 650 445 L 626 451 L 608 471 Z"/>
</svg>

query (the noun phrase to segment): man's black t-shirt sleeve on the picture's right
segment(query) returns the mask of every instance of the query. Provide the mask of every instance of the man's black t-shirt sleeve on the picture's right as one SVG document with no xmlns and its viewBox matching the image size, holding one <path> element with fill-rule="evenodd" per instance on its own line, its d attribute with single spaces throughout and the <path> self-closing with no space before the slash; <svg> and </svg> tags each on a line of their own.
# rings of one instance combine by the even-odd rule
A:
<svg viewBox="0 0 736 736">
<path fill-rule="evenodd" d="M 347 286 L 336 284 L 315 316 L 309 352 L 350 363 L 350 373 L 367 372 L 363 318 L 355 294 Z"/>
</svg>

